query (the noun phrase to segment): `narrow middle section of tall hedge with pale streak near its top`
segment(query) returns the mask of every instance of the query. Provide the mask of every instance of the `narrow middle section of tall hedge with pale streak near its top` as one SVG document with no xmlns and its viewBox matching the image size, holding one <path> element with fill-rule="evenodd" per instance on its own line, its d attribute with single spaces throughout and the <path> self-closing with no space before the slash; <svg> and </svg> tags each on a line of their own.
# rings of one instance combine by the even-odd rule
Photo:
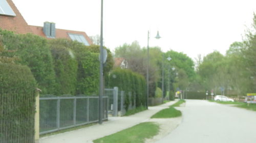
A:
<svg viewBox="0 0 256 143">
<path fill-rule="evenodd" d="M 61 43 L 61 40 L 51 40 L 49 45 L 56 75 L 55 93 L 56 95 L 74 95 L 78 67 L 78 62 L 75 58 L 76 54 L 68 45 Z"/>
</svg>

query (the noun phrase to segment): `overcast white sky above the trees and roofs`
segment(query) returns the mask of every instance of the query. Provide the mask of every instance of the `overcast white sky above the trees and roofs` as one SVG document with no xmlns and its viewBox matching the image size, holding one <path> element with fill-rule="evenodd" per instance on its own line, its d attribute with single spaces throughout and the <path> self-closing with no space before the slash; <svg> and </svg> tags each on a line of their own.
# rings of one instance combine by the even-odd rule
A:
<svg viewBox="0 0 256 143">
<path fill-rule="evenodd" d="M 56 28 L 100 34 L 100 0 L 12 0 L 29 25 L 55 22 Z M 195 58 L 221 53 L 242 41 L 256 12 L 255 0 L 109 0 L 104 1 L 103 37 L 114 50 L 139 41 L 163 51 L 173 49 Z M 159 31 L 160 40 L 154 37 Z"/>
</svg>

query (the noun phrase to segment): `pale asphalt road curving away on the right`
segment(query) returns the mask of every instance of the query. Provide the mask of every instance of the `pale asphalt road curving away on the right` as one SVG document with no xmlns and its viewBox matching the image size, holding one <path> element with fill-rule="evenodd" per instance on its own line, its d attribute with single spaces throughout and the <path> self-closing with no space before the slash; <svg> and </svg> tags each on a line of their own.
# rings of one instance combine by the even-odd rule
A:
<svg viewBox="0 0 256 143">
<path fill-rule="evenodd" d="M 256 111 L 203 100 L 179 107 L 183 121 L 155 143 L 255 143 Z"/>
</svg>

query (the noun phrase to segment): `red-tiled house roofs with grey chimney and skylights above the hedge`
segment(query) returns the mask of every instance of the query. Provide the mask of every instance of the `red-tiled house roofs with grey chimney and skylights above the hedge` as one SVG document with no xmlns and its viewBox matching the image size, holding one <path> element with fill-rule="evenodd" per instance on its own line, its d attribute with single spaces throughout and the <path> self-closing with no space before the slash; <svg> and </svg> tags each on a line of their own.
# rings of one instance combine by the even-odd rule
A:
<svg viewBox="0 0 256 143">
<path fill-rule="evenodd" d="M 28 25 L 12 0 L 0 0 L 0 28 L 17 34 L 33 33 L 48 39 L 66 38 L 84 45 L 93 44 L 85 32 L 60 30 L 55 28 L 55 23 L 52 22 L 45 22 L 44 27 Z"/>
</svg>

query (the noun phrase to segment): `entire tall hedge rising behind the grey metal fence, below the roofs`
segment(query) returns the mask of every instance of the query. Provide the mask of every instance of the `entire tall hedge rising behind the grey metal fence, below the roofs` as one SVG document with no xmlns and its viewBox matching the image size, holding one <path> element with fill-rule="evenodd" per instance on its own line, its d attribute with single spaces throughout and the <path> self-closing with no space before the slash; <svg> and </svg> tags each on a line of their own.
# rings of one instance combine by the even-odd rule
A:
<svg viewBox="0 0 256 143">
<path fill-rule="evenodd" d="M 41 94 L 98 94 L 99 47 L 85 46 L 67 39 L 47 40 L 32 34 L 17 35 L 0 30 L 4 47 L 14 52 L 16 63 L 27 65 L 34 75 Z M 104 67 L 107 74 L 113 67 L 111 52 Z"/>
</svg>

